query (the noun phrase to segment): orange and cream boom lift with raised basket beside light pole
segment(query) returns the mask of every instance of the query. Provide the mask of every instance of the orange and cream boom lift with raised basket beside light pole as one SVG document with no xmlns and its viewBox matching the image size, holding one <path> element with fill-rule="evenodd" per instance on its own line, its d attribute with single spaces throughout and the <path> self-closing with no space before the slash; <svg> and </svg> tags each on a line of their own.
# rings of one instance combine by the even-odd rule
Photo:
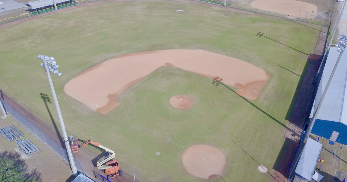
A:
<svg viewBox="0 0 347 182">
<path fill-rule="evenodd" d="M 93 144 L 104 149 L 106 151 L 106 158 L 96 163 L 96 166 L 98 166 L 98 169 L 101 169 L 103 170 L 105 174 L 110 175 L 111 179 L 115 176 L 122 175 L 122 171 L 119 170 L 118 162 L 112 160 L 112 158 L 115 157 L 115 151 L 110 150 L 109 148 L 102 146 L 98 142 L 91 141 L 91 140 L 87 140 L 81 145 L 78 145 L 78 139 L 72 136 L 70 137 L 70 143 L 71 143 L 70 144 L 71 149 L 74 153 L 78 152 L 79 148 L 84 147 L 87 144 Z M 103 165 L 104 163 L 106 164 Z"/>
</svg>

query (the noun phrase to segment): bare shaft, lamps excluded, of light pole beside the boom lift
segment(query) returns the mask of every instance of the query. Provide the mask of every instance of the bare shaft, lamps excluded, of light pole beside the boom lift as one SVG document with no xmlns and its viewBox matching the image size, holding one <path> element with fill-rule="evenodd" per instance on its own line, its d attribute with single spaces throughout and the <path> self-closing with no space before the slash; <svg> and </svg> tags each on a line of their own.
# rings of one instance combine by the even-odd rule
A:
<svg viewBox="0 0 347 182">
<path fill-rule="evenodd" d="M 56 106 L 56 110 L 57 110 L 57 114 L 58 114 L 58 119 L 59 119 L 61 131 L 62 131 L 63 138 L 64 138 L 64 141 L 65 141 L 66 151 L 67 151 L 67 154 L 69 156 L 69 161 L 70 161 L 70 165 L 71 165 L 72 174 L 76 177 L 78 175 L 77 169 L 76 169 L 76 164 L 75 164 L 74 156 L 72 155 L 72 151 L 71 151 L 71 148 L 70 148 L 69 139 L 67 138 L 67 134 L 66 134 L 66 130 L 65 130 L 65 124 L 64 124 L 64 121 L 63 121 L 63 117 L 61 115 L 61 111 L 60 111 L 60 107 L 59 107 L 59 104 L 58 104 L 57 95 L 56 95 L 56 92 L 55 92 L 54 87 L 53 87 L 51 73 L 49 72 L 49 69 L 48 69 L 47 60 L 43 59 L 43 63 L 44 63 L 44 68 L 45 68 L 46 75 L 47 75 L 47 78 L 48 78 L 48 83 L 49 83 L 49 86 L 50 86 L 51 91 L 52 91 L 54 105 Z"/>
</svg>

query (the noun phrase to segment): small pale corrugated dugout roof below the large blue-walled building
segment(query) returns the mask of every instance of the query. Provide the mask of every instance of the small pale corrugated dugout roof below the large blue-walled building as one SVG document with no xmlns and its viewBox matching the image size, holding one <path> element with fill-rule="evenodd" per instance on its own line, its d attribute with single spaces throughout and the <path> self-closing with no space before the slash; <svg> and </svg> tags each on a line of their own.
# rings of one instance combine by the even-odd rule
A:
<svg viewBox="0 0 347 182">
<path fill-rule="evenodd" d="M 311 181 L 318 162 L 319 154 L 321 153 L 322 144 L 314 141 L 311 138 L 307 139 L 298 165 L 295 168 L 295 173 Z"/>
</svg>

